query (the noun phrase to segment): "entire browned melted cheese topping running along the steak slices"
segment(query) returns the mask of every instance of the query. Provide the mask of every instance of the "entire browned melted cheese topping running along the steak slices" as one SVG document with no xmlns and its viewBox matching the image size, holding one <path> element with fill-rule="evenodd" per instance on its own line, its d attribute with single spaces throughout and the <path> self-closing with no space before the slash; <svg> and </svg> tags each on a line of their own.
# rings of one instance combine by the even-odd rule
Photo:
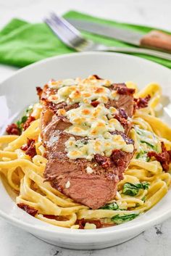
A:
<svg viewBox="0 0 171 256">
<path fill-rule="evenodd" d="M 49 96 L 49 101 L 58 104 L 79 103 L 79 107 L 73 110 L 58 110 L 58 115 L 64 115 L 72 125 L 64 131 L 75 136 L 86 137 L 75 140 L 74 137 L 65 143 L 67 157 L 70 159 L 86 158 L 92 160 L 94 154 L 102 154 L 109 157 L 114 149 L 125 152 L 133 152 L 133 145 L 126 144 L 122 136 L 112 135 L 112 131 L 124 132 L 120 122 L 114 118 L 118 111 L 114 107 L 107 109 L 105 104 L 109 100 L 117 100 L 117 91 L 111 91 L 108 86 L 111 81 L 96 79 L 91 76 L 87 79 L 80 78 L 67 80 L 52 80 L 49 87 L 57 88 L 57 94 Z M 92 101 L 98 101 L 93 107 Z M 90 170 L 88 170 L 90 171 Z"/>
</svg>

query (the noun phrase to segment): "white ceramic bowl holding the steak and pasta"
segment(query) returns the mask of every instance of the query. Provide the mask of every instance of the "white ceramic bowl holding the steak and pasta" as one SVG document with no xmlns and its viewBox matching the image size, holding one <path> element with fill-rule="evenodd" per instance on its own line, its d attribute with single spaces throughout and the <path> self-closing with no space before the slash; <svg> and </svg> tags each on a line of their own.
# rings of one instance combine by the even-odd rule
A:
<svg viewBox="0 0 171 256">
<path fill-rule="evenodd" d="M 133 80 L 141 88 L 157 82 L 162 85 L 164 94 L 169 95 L 171 91 L 171 71 L 138 57 L 95 52 L 53 57 L 25 67 L 1 83 L 1 133 L 21 110 L 37 100 L 36 86 L 43 86 L 50 78 L 84 78 L 91 74 L 115 82 Z M 155 207 L 128 223 L 98 230 L 72 230 L 51 226 L 16 207 L 3 183 L 0 183 L 0 194 L 1 217 L 44 241 L 72 249 L 101 249 L 120 244 L 171 215 L 171 192 L 168 192 Z"/>
</svg>

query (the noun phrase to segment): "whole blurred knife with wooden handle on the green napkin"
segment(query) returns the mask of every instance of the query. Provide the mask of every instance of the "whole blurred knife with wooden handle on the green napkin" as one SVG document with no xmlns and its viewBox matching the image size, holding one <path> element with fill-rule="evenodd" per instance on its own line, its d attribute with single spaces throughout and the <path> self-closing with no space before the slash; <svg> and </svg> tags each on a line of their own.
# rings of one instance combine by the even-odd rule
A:
<svg viewBox="0 0 171 256">
<path fill-rule="evenodd" d="M 67 19 L 67 21 L 79 30 L 114 38 L 135 46 L 171 52 L 171 36 L 159 30 L 151 30 L 144 35 L 137 31 L 102 25 L 86 20 Z"/>
</svg>

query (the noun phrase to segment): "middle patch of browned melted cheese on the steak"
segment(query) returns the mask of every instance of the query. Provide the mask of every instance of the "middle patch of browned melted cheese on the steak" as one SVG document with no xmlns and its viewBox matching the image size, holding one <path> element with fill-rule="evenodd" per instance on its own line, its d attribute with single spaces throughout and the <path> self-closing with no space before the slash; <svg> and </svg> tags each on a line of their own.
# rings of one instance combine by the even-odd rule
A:
<svg viewBox="0 0 171 256">
<path fill-rule="evenodd" d="M 98 138 L 103 136 L 107 131 L 124 131 L 120 122 L 113 118 L 117 114 L 114 107 L 109 110 L 104 107 L 104 104 L 99 104 L 97 107 L 91 104 L 80 104 L 76 110 L 66 112 L 67 118 L 72 125 L 65 131 L 75 136 L 88 136 L 90 138 Z"/>
</svg>

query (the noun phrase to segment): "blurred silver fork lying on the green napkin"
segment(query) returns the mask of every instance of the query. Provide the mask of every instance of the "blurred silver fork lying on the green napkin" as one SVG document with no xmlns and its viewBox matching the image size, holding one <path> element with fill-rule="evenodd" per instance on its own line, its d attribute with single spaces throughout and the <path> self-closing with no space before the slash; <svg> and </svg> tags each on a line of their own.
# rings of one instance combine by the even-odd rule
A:
<svg viewBox="0 0 171 256">
<path fill-rule="evenodd" d="M 44 19 L 51 30 L 66 44 L 76 51 L 115 51 L 122 53 L 148 54 L 162 59 L 171 60 L 171 54 L 151 49 L 139 49 L 136 47 L 115 47 L 96 44 L 95 42 L 84 38 L 80 31 L 70 24 L 63 17 L 51 13 L 48 18 Z"/>
</svg>

